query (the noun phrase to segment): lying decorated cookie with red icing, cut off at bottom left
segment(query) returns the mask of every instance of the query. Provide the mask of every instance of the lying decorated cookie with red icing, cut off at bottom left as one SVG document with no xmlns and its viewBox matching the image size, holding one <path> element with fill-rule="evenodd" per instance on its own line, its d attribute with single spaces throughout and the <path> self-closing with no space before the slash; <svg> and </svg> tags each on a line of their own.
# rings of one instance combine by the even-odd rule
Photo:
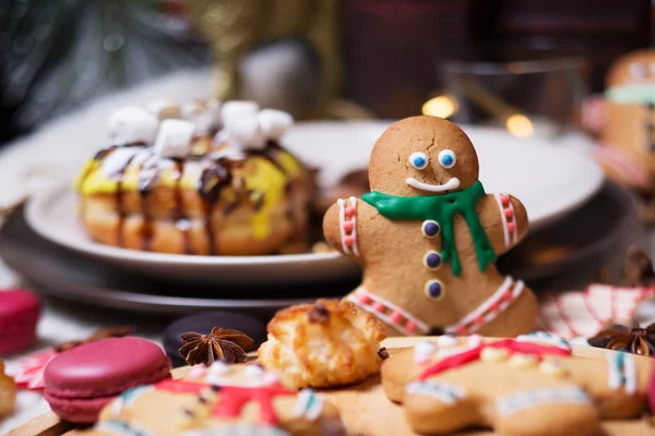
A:
<svg viewBox="0 0 655 436">
<path fill-rule="evenodd" d="M 131 389 L 84 435 L 342 435 L 336 409 L 313 390 L 282 386 L 258 365 L 215 362 L 181 379 Z"/>
</svg>

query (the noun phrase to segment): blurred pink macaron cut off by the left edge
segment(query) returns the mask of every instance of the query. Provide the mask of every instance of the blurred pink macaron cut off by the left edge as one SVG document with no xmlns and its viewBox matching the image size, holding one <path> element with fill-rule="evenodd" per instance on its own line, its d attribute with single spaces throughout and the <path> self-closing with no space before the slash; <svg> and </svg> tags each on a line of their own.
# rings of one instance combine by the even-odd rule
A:
<svg viewBox="0 0 655 436">
<path fill-rule="evenodd" d="M 20 289 L 0 291 L 0 358 L 29 348 L 36 340 L 38 296 Z"/>
</svg>

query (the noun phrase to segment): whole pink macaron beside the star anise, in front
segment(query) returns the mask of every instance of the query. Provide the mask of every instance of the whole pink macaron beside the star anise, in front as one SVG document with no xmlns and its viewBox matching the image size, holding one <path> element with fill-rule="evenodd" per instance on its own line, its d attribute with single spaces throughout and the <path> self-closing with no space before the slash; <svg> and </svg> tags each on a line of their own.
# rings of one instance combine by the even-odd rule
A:
<svg viewBox="0 0 655 436">
<path fill-rule="evenodd" d="M 93 423 L 121 392 L 170 376 L 170 360 L 154 342 L 112 338 L 59 354 L 45 370 L 45 397 L 61 419 Z"/>
</svg>

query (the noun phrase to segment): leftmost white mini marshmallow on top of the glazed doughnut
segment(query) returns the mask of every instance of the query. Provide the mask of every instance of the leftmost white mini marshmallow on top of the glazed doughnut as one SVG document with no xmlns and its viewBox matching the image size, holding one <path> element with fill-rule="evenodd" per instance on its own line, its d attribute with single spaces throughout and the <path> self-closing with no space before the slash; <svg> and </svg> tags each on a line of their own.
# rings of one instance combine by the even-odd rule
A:
<svg viewBox="0 0 655 436">
<path fill-rule="evenodd" d="M 159 120 L 135 106 L 127 106 L 111 113 L 107 123 L 111 145 L 134 143 L 152 144 Z"/>
</svg>

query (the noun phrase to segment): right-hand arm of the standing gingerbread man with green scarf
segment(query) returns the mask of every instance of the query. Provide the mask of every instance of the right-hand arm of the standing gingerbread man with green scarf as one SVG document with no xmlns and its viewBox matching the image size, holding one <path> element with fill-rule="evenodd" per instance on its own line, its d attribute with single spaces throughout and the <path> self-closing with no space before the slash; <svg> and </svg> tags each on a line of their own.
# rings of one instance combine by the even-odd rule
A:
<svg viewBox="0 0 655 436">
<path fill-rule="evenodd" d="M 527 233 L 527 211 L 509 194 L 488 194 L 477 206 L 478 217 L 497 255 L 516 246 Z"/>
</svg>

